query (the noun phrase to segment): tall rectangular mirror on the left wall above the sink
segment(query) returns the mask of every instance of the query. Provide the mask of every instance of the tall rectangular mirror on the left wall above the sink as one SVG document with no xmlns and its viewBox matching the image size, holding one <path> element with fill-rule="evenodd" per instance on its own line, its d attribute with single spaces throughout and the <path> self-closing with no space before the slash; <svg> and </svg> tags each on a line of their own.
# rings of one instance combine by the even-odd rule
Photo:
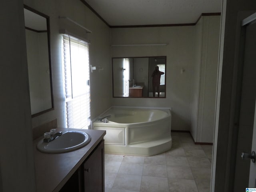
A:
<svg viewBox="0 0 256 192">
<path fill-rule="evenodd" d="M 32 117 L 54 109 L 49 16 L 24 5 Z"/>
</svg>

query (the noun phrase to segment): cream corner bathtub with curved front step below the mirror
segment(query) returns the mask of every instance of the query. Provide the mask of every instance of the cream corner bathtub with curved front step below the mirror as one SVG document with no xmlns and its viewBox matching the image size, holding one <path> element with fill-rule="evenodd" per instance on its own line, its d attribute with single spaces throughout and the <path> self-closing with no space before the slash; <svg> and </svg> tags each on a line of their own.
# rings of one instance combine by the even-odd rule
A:
<svg viewBox="0 0 256 192">
<path fill-rule="evenodd" d="M 100 117 L 109 115 L 93 122 L 94 130 L 106 130 L 106 153 L 152 156 L 171 148 L 170 109 L 112 107 Z"/>
</svg>

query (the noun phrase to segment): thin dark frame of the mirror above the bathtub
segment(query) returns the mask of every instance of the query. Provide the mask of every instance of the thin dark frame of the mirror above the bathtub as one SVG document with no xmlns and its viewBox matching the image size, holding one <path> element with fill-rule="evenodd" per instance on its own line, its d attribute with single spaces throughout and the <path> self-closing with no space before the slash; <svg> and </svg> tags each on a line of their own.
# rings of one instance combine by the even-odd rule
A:
<svg viewBox="0 0 256 192">
<path fill-rule="evenodd" d="M 153 97 L 153 96 L 142 96 L 142 97 L 130 97 L 130 96 L 126 96 L 126 97 L 122 97 L 122 96 L 114 96 L 114 68 L 113 68 L 113 60 L 114 59 L 121 59 L 121 58 L 148 58 L 148 86 L 149 86 L 149 82 L 150 82 L 150 58 L 164 58 L 165 59 L 165 74 L 166 74 L 166 63 L 167 63 L 167 56 L 136 56 L 136 57 L 112 57 L 112 98 L 166 98 L 166 75 L 165 75 L 165 88 L 164 88 L 164 97 Z"/>
</svg>

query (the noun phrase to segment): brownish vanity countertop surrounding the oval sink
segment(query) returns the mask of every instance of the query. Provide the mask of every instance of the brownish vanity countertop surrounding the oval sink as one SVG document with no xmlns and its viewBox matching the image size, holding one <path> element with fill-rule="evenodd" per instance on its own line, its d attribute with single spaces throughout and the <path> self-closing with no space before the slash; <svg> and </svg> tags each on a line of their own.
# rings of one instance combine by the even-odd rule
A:
<svg viewBox="0 0 256 192">
<path fill-rule="evenodd" d="M 58 192 L 74 172 L 80 167 L 98 143 L 103 140 L 106 131 L 57 128 L 58 131 L 78 130 L 88 133 L 92 140 L 86 146 L 71 152 L 60 154 L 47 154 L 40 152 L 36 145 L 39 140 L 34 140 L 34 162 L 36 170 L 37 192 Z"/>
</svg>

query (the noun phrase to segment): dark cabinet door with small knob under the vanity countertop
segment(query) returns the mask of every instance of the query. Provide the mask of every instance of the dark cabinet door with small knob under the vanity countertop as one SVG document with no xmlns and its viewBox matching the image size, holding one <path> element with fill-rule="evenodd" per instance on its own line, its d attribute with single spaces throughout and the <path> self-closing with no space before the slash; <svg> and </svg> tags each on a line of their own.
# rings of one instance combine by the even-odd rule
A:
<svg viewBox="0 0 256 192">
<path fill-rule="evenodd" d="M 84 162 L 84 191 L 104 192 L 104 140 Z"/>
</svg>

